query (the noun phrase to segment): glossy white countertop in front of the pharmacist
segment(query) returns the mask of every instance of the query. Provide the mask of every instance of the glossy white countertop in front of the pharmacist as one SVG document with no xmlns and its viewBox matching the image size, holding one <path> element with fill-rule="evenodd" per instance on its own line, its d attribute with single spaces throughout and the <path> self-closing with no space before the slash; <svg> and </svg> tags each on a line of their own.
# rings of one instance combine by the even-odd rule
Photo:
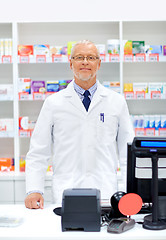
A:
<svg viewBox="0 0 166 240">
<path fill-rule="evenodd" d="M 135 224 L 134 228 L 121 234 L 107 233 L 102 227 L 100 232 L 61 231 L 61 217 L 53 213 L 55 205 L 45 206 L 43 210 L 26 209 L 24 205 L 0 205 L 0 216 L 22 217 L 23 223 L 17 227 L 0 227 L 0 239 L 24 240 L 166 240 L 166 230 L 151 231 Z M 136 221 L 142 220 L 142 215 L 133 216 Z"/>
</svg>

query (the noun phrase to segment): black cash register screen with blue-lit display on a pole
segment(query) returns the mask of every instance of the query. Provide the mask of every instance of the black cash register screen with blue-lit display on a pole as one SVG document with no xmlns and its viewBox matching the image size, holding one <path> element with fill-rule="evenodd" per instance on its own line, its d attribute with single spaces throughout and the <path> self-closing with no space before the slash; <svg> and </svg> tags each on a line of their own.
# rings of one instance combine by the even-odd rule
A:
<svg viewBox="0 0 166 240">
<path fill-rule="evenodd" d="M 137 160 L 151 159 L 151 177 L 136 176 L 139 166 Z M 152 215 L 144 219 L 146 229 L 166 228 L 166 166 L 165 178 L 158 178 L 158 160 L 166 158 L 166 138 L 135 137 L 132 144 L 128 144 L 127 162 L 127 193 L 137 193 L 144 203 L 152 206 Z M 145 171 L 149 167 L 145 167 Z"/>
</svg>

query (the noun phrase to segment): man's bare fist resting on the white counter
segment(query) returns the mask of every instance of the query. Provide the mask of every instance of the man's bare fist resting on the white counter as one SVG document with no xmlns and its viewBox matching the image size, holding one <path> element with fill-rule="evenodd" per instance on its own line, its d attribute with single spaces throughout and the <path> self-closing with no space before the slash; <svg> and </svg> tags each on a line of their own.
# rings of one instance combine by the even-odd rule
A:
<svg viewBox="0 0 166 240">
<path fill-rule="evenodd" d="M 31 193 L 25 198 L 25 206 L 30 209 L 43 209 L 44 198 L 40 193 Z"/>
</svg>

